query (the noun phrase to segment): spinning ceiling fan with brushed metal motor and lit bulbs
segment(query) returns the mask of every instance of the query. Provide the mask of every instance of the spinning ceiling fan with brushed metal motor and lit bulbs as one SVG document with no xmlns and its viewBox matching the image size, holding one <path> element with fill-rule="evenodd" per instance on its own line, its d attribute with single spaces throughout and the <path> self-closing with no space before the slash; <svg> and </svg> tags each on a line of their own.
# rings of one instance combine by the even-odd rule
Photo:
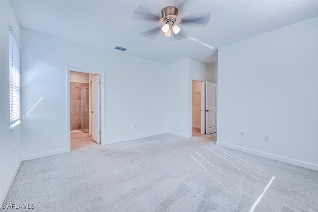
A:
<svg viewBox="0 0 318 212">
<path fill-rule="evenodd" d="M 166 6 L 161 10 L 161 16 L 152 14 L 149 10 L 139 5 L 132 16 L 133 20 L 142 20 L 149 22 L 148 26 L 153 26 L 152 29 L 143 31 L 140 34 L 146 38 L 153 39 L 162 31 L 166 37 L 173 38 L 173 40 L 181 40 L 188 36 L 182 33 L 185 25 L 205 27 L 210 20 L 210 13 L 204 15 L 193 15 L 189 17 L 179 17 L 179 9 L 182 10 L 187 1 L 178 6 Z M 178 9 L 179 8 L 179 9 Z M 194 10 L 195 12 L 196 10 Z M 182 26 L 181 26 L 182 25 Z M 146 25 L 147 26 L 147 25 Z M 155 26 L 155 27 L 154 27 Z"/>
</svg>

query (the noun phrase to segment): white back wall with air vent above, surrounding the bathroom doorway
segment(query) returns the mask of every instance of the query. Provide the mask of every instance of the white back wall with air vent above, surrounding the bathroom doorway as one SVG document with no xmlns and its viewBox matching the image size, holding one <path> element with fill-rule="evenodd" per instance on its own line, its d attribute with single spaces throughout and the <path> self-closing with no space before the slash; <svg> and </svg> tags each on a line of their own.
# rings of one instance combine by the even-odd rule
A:
<svg viewBox="0 0 318 212">
<path fill-rule="evenodd" d="M 115 49 L 82 45 L 21 29 L 22 110 L 43 100 L 24 118 L 23 156 L 33 158 L 67 148 L 67 67 L 103 73 L 105 141 L 117 142 L 167 131 L 167 65 Z M 134 125 L 137 124 L 137 128 Z"/>
</svg>

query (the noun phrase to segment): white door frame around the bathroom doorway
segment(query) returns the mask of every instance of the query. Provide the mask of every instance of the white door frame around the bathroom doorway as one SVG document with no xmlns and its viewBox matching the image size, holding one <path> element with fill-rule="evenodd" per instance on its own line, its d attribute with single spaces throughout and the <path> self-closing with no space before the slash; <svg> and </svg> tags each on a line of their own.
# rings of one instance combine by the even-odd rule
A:
<svg viewBox="0 0 318 212">
<path fill-rule="evenodd" d="M 78 69 L 78 68 L 72 68 L 67 67 L 67 94 L 66 94 L 66 100 L 67 100 L 67 129 L 69 133 L 67 133 L 66 138 L 66 148 L 67 151 L 71 151 L 71 87 L 70 87 L 70 71 L 76 71 L 81 73 L 91 73 L 91 74 L 97 74 L 100 75 L 100 144 L 104 145 L 105 140 L 105 75 L 103 72 L 98 71 L 91 71 L 91 70 L 85 70 L 85 69 Z"/>
</svg>

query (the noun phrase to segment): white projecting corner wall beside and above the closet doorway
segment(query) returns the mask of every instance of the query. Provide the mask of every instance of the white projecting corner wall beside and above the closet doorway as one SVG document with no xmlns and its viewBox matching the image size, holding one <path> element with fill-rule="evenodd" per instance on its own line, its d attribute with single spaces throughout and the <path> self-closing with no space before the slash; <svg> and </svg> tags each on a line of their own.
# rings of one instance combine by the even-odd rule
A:
<svg viewBox="0 0 318 212">
<path fill-rule="evenodd" d="M 168 131 L 189 138 L 192 136 L 192 80 L 213 81 L 214 68 L 192 59 L 169 65 L 168 87 Z M 205 95 L 205 92 L 203 93 Z M 201 99 L 204 104 L 204 98 Z M 205 121 L 201 113 L 201 122 Z"/>
</svg>

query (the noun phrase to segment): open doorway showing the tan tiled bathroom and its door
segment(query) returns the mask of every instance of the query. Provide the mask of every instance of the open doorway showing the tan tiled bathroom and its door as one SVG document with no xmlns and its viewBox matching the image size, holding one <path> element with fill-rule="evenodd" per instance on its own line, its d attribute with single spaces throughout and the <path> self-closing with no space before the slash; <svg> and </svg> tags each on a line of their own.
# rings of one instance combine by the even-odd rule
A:
<svg viewBox="0 0 318 212">
<path fill-rule="evenodd" d="M 69 73 L 70 150 L 100 144 L 100 75 Z"/>
</svg>

